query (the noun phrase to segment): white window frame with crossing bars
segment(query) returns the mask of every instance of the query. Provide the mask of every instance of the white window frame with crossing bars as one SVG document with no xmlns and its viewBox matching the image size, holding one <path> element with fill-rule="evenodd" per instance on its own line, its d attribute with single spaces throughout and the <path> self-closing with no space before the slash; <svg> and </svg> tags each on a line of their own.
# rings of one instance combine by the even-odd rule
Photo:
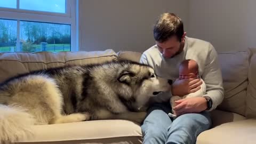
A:
<svg viewBox="0 0 256 144">
<path fill-rule="evenodd" d="M 20 37 L 20 21 L 49 22 L 70 25 L 71 51 L 78 51 L 77 4 L 78 0 L 66 0 L 66 13 L 55 13 L 19 9 L 19 0 L 17 0 L 17 9 L 0 7 L 0 18 L 17 20 L 17 39 Z M 19 47 L 19 43 L 17 43 L 17 47 Z"/>
</svg>

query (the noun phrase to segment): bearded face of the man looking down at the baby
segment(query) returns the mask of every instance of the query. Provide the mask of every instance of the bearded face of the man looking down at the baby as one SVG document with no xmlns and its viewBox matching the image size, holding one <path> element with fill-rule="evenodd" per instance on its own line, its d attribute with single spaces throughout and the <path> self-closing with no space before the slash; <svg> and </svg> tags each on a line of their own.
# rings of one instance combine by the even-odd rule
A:
<svg viewBox="0 0 256 144">
<path fill-rule="evenodd" d="M 178 55 L 183 51 L 184 39 L 185 38 L 182 37 L 180 42 L 176 36 L 172 36 L 163 43 L 156 41 L 156 45 L 164 58 L 173 58 L 175 55 Z"/>
</svg>

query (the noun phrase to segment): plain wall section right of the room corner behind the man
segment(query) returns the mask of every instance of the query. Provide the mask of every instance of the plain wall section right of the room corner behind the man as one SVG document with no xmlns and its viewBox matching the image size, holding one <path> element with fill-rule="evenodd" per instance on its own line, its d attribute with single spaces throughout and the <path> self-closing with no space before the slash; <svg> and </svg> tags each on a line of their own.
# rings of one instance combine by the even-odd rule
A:
<svg viewBox="0 0 256 144">
<path fill-rule="evenodd" d="M 255 0 L 190 0 L 188 36 L 210 41 L 218 52 L 256 47 Z"/>
</svg>

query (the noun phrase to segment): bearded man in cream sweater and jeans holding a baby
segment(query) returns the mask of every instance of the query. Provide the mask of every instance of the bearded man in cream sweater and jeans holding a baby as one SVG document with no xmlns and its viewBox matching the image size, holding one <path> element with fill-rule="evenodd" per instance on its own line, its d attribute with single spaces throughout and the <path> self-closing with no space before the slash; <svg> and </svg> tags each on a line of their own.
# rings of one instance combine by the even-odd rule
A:
<svg viewBox="0 0 256 144">
<path fill-rule="evenodd" d="M 218 55 L 214 47 L 200 39 L 189 38 L 183 30 L 182 20 L 173 13 L 163 13 L 154 26 L 156 45 L 145 51 L 141 63 L 152 66 L 156 74 L 173 80 L 172 91 L 152 99 L 148 115 L 141 129 L 143 143 L 192 143 L 197 135 L 211 127 L 208 111 L 223 100 L 222 76 Z M 173 108 L 178 117 L 173 120 L 169 99 L 172 95 L 186 95 L 199 90 L 198 78 L 178 79 L 179 64 L 185 59 L 198 62 L 199 75 L 206 84 L 203 97 L 175 101 Z"/>
</svg>

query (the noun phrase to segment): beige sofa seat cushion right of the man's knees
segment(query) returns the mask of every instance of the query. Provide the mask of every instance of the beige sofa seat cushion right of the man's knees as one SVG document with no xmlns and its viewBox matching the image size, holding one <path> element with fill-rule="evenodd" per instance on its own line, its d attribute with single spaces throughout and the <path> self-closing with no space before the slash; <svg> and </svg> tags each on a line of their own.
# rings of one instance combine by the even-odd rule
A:
<svg viewBox="0 0 256 144">
<path fill-rule="evenodd" d="M 222 116 L 220 116 L 221 118 Z M 256 119 L 221 124 L 202 132 L 197 137 L 197 144 L 254 144 Z"/>
</svg>

